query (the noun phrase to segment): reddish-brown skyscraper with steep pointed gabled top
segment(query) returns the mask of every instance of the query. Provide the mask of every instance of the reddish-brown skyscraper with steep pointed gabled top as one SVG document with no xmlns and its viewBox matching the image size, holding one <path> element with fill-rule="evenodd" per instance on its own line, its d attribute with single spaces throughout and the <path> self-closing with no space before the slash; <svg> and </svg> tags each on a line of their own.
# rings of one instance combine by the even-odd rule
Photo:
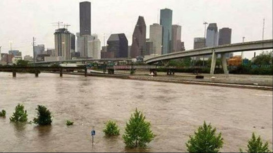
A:
<svg viewBox="0 0 273 153">
<path fill-rule="evenodd" d="M 146 24 L 144 17 L 139 16 L 133 33 L 133 43 L 130 56 L 136 58 L 144 56 L 146 50 Z"/>
</svg>

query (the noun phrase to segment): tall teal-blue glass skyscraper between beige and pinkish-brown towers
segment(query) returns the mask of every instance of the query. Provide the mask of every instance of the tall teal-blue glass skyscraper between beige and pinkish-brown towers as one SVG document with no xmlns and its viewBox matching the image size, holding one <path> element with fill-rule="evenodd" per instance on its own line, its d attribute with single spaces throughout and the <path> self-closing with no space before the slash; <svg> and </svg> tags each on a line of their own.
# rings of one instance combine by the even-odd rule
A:
<svg viewBox="0 0 273 153">
<path fill-rule="evenodd" d="M 163 27 L 162 31 L 162 54 L 171 53 L 171 39 L 172 39 L 172 20 L 173 11 L 170 9 L 160 10 L 160 25 Z"/>
</svg>

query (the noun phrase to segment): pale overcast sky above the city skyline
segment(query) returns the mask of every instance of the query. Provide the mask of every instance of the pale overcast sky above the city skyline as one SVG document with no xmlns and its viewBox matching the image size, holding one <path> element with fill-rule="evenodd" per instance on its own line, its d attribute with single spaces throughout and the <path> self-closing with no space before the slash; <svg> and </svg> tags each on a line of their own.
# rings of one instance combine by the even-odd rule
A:
<svg viewBox="0 0 273 153">
<path fill-rule="evenodd" d="M 79 32 L 79 2 L 82 0 L 0 0 L 0 46 L 7 53 L 12 49 L 32 56 L 32 37 L 37 44 L 54 48 L 54 22 L 71 25 Z M 138 16 L 144 16 L 149 38 L 149 25 L 158 22 L 163 8 L 173 10 L 173 24 L 182 26 L 186 50 L 193 48 L 194 37 L 204 36 L 203 22 L 217 23 L 218 29 L 232 28 L 232 43 L 262 39 L 263 18 L 265 39 L 273 38 L 272 0 L 91 0 L 91 31 L 103 46 L 112 33 L 125 33 L 129 45 Z M 248 58 L 253 52 L 245 53 Z"/>
</svg>

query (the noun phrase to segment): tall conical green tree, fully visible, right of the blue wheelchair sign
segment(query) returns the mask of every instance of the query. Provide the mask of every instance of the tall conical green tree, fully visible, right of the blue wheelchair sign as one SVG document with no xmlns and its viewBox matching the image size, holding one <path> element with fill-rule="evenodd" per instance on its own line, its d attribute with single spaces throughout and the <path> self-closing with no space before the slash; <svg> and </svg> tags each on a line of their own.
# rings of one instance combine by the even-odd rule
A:
<svg viewBox="0 0 273 153">
<path fill-rule="evenodd" d="M 143 113 L 136 108 L 129 122 L 126 123 L 125 134 L 122 137 L 127 148 L 138 146 L 144 148 L 155 136 L 151 130 L 151 124 L 145 121 Z"/>
</svg>

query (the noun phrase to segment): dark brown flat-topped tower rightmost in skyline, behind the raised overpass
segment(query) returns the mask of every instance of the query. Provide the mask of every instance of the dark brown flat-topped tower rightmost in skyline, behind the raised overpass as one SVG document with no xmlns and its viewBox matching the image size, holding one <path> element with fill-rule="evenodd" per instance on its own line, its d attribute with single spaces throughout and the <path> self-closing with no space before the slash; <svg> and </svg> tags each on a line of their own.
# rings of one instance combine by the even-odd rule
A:
<svg viewBox="0 0 273 153">
<path fill-rule="evenodd" d="M 231 44 L 232 29 L 222 28 L 219 30 L 219 45 Z M 227 58 L 233 57 L 233 53 L 227 53 Z"/>
</svg>

